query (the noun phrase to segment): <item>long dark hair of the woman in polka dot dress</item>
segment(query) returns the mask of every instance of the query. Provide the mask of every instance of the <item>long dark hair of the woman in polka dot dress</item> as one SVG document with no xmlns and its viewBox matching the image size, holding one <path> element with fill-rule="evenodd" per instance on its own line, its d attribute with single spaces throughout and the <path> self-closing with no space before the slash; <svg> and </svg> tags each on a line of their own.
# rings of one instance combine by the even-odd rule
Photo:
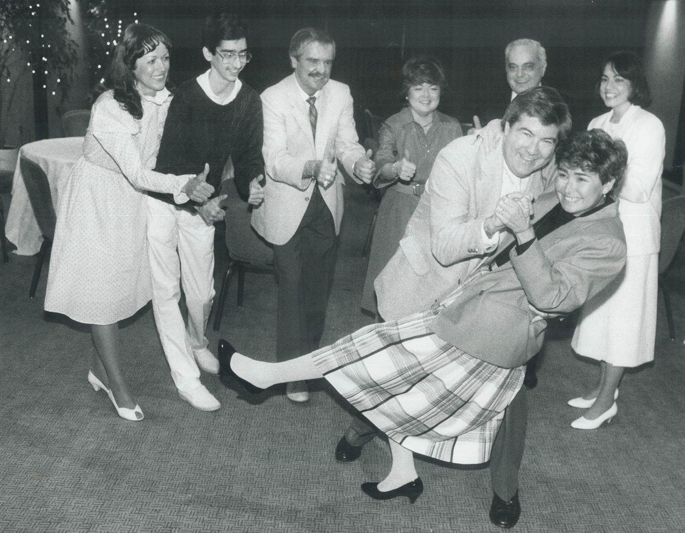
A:
<svg viewBox="0 0 685 533">
<path fill-rule="evenodd" d="M 159 44 L 171 49 L 171 40 L 160 30 L 147 24 L 129 24 L 123 39 L 116 45 L 112 64 L 105 77 L 105 87 L 114 89 L 114 100 L 134 118 L 142 118 L 142 103 L 136 89 L 136 61 Z"/>
</svg>

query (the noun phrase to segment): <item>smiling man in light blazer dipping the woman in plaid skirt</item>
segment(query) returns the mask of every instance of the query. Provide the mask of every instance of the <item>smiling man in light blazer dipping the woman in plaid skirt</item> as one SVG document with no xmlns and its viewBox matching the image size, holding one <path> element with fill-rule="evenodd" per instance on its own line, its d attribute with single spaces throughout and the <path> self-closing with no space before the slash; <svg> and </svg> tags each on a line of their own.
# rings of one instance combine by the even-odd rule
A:
<svg viewBox="0 0 685 533">
<path fill-rule="evenodd" d="M 483 132 L 456 139 L 438 154 L 400 246 L 375 281 L 384 320 L 431 307 L 479 265 L 493 261 L 508 235 L 495 216 L 502 196 L 523 193 L 534 201 L 553 190 L 554 148 L 571 130 L 569 109 L 558 92 L 536 87 L 521 93 L 501 124 L 503 133 L 494 144 Z M 490 520 L 501 527 L 516 524 L 521 510 L 518 473 L 526 419 L 523 388 L 505 411 L 490 456 Z M 372 438 L 370 426 L 353 419 L 336 458 L 356 459 Z"/>
</svg>

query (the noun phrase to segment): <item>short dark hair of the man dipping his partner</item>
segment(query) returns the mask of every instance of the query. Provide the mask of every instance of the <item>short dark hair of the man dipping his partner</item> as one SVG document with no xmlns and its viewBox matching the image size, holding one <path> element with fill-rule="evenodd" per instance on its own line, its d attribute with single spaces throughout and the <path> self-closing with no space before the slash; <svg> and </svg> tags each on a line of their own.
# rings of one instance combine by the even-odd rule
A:
<svg viewBox="0 0 685 533">
<path fill-rule="evenodd" d="M 545 126 L 558 126 L 560 141 L 571 131 L 569 106 L 557 90 L 551 87 L 538 86 L 519 93 L 504 113 L 502 128 L 507 122 L 513 126 L 522 115 L 538 118 Z"/>
</svg>

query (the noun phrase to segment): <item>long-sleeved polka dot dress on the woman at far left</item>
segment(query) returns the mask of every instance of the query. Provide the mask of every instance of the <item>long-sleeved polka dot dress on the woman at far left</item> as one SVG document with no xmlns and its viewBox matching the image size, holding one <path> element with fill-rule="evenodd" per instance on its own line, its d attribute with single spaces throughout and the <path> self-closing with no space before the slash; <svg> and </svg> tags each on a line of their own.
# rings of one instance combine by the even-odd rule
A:
<svg viewBox="0 0 685 533">
<path fill-rule="evenodd" d="M 114 324 L 151 299 L 145 190 L 178 194 L 188 176 L 155 166 L 171 94 L 143 97 L 136 120 L 103 93 L 92 107 L 84 155 L 60 194 L 45 310 L 84 324 Z"/>
</svg>

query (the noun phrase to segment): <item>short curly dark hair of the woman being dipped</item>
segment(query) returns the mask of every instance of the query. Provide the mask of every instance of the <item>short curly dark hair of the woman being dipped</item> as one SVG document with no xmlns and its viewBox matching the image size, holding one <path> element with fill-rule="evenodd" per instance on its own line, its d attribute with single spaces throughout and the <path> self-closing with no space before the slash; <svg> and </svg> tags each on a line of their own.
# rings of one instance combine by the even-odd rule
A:
<svg viewBox="0 0 685 533">
<path fill-rule="evenodd" d="M 622 140 L 612 139 L 601 129 L 590 129 L 571 133 L 560 142 L 556 148 L 556 161 L 569 168 L 597 172 L 601 183 L 612 179 L 619 183 L 628 164 L 628 151 Z"/>
</svg>

